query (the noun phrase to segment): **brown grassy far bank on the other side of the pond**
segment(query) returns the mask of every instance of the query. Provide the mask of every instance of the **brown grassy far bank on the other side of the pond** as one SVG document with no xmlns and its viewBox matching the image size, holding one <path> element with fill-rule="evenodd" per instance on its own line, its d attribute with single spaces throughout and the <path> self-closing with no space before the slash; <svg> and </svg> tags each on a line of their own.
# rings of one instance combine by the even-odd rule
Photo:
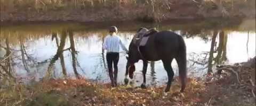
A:
<svg viewBox="0 0 256 106">
<path fill-rule="evenodd" d="M 208 17 L 255 17 L 255 1 L 1 0 L 1 21 L 159 22 Z"/>
</svg>

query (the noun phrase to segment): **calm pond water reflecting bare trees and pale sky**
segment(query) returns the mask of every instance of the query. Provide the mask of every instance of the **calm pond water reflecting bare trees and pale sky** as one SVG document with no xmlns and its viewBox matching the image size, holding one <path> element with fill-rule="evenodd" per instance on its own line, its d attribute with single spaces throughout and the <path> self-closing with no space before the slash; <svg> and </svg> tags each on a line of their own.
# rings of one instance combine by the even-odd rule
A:
<svg viewBox="0 0 256 106">
<path fill-rule="evenodd" d="M 234 64 L 255 56 L 255 20 L 238 22 L 179 21 L 158 24 L 139 22 L 109 23 L 21 23 L 1 25 L 1 71 L 20 79 L 83 76 L 90 80 L 109 82 L 103 38 L 108 28 L 116 25 L 126 47 L 140 27 L 180 34 L 187 46 L 188 76 L 204 76 L 219 64 Z M 126 58 L 121 51 L 118 82 L 123 83 Z M 59 58 L 55 58 L 59 57 Z M 147 84 L 167 81 L 162 61 L 150 62 Z M 135 64 L 134 78 L 142 81 L 142 61 Z M 175 75 L 177 63 L 172 62 Z"/>
</svg>

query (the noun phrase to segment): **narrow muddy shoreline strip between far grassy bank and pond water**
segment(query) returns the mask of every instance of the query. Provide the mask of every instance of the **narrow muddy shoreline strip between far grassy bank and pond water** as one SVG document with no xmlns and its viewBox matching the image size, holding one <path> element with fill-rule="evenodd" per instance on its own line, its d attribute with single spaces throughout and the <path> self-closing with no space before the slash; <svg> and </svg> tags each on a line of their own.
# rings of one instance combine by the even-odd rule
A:
<svg viewBox="0 0 256 106">
<path fill-rule="evenodd" d="M 229 23 L 241 22 L 243 20 L 255 20 L 254 17 L 233 17 L 233 18 L 223 18 L 223 17 L 209 17 L 209 18 L 198 18 L 198 19 L 170 19 L 161 22 L 143 22 L 138 20 L 123 20 L 123 21 L 0 21 L 0 25 L 19 25 L 19 24 L 59 24 L 59 23 L 78 23 L 78 24 L 134 24 L 134 23 L 142 23 L 142 24 L 186 24 L 186 23 L 197 23 L 197 22 L 206 22 L 206 21 L 226 21 Z"/>
</svg>

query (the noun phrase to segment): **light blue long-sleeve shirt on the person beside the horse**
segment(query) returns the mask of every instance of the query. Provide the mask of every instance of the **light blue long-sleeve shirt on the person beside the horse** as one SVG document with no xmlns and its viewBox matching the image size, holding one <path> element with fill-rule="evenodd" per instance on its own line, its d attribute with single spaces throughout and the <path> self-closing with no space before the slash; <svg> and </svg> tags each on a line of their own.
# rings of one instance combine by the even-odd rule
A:
<svg viewBox="0 0 256 106">
<path fill-rule="evenodd" d="M 119 52 L 119 46 L 121 46 L 124 51 L 128 52 L 121 39 L 114 34 L 113 36 L 108 35 L 105 37 L 102 48 L 106 49 L 107 52 Z"/>
</svg>

